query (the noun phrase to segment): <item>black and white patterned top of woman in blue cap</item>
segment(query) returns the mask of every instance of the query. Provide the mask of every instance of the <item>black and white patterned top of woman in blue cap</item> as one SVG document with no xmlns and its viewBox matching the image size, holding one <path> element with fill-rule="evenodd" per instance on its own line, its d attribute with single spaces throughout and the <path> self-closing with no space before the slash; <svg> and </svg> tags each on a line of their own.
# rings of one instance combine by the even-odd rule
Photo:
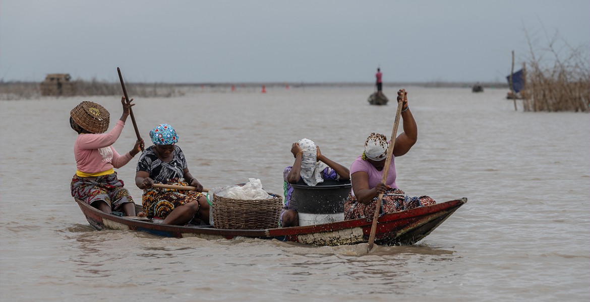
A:
<svg viewBox="0 0 590 302">
<path fill-rule="evenodd" d="M 171 178 L 184 177 L 184 170 L 188 165 L 186 164 L 186 158 L 181 147 L 174 145 L 174 151 L 172 153 L 172 160 L 165 162 L 158 158 L 153 146 L 146 148 L 139 157 L 136 172 L 148 172 L 149 177 L 160 184 L 166 184 Z"/>
</svg>

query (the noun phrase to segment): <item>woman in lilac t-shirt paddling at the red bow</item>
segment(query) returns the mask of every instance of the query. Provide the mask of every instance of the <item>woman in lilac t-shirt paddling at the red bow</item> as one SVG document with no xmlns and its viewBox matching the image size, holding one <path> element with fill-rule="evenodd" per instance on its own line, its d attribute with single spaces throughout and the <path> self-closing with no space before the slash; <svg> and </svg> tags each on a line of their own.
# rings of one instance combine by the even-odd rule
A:
<svg viewBox="0 0 590 302">
<path fill-rule="evenodd" d="M 381 214 L 394 213 L 410 208 L 435 204 L 428 196 L 408 197 L 399 190 L 395 183 L 395 157 L 406 154 L 418 140 L 418 126 L 409 111 L 407 95 L 398 92 L 398 102 L 404 102 L 402 120 L 404 132 L 395 138 L 394 153 L 389 166 L 386 183 L 383 184 L 383 168 L 387 157 L 389 143 L 383 134 L 371 133 L 365 141 L 365 151 L 350 166 L 352 190 L 344 205 L 344 217 L 348 219 L 371 218 L 375 215 L 375 207 L 379 194 L 383 193 Z M 407 94 L 407 92 L 406 92 Z"/>
</svg>

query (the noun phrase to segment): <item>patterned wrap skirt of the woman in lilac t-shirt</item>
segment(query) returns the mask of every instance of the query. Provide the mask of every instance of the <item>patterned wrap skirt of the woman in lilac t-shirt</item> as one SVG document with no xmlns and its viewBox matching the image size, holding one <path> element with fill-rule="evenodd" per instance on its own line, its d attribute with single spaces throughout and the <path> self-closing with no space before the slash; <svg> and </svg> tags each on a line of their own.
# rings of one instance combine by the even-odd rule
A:
<svg viewBox="0 0 590 302">
<path fill-rule="evenodd" d="M 409 197 L 404 194 L 405 193 L 402 190 L 387 188 L 381 200 L 381 211 L 379 211 L 379 216 L 436 204 L 436 201 L 428 196 Z M 348 198 L 346 198 L 344 203 L 344 219 L 367 218 L 367 220 L 372 220 L 375 216 L 375 207 L 378 198 L 379 197 L 373 198 L 369 204 L 363 204 L 356 201 L 355 196 L 348 194 Z"/>
</svg>

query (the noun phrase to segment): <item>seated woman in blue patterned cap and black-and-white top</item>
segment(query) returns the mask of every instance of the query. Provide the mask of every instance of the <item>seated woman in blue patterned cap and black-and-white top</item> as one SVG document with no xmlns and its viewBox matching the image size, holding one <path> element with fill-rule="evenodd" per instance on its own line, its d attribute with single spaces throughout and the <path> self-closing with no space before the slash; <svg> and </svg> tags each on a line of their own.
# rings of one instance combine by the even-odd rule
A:
<svg viewBox="0 0 590 302">
<path fill-rule="evenodd" d="M 137 162 L 135 184 L 143 189 L 142 204 L 148 218 L 163 224 L 185 225 L 209 222 L 209 203 L 203 186 L 192 176 L 185 155 L 176 145 L 178 134 L 171 125 L 160 124 L 149 132 L 153 145 Z M 154 188 L 153 184 L 191 185 L 196 191 Z"/>
</svg>

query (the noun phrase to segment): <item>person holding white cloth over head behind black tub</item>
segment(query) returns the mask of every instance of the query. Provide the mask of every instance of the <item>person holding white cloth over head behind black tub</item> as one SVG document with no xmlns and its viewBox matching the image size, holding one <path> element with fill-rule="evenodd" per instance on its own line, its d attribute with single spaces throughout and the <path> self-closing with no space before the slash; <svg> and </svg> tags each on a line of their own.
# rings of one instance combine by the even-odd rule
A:
<svg viewBox="0 0 590 302">
<path fill-rule="evenodd" d="M 295 162 L 283 171 L 285 205 L 280 216 L 281 227 L 299 225 L 297 203 L 291 201 L 291 184 L 303 180 L 305 184 L 313 186 L 324 180 L 350 179 L 348 168 L 327 158 L 320 152 L 320 147 L 307 138 L 294 142 L 291 145 L 291 153 L 295 157 Z"/>
</svg>

